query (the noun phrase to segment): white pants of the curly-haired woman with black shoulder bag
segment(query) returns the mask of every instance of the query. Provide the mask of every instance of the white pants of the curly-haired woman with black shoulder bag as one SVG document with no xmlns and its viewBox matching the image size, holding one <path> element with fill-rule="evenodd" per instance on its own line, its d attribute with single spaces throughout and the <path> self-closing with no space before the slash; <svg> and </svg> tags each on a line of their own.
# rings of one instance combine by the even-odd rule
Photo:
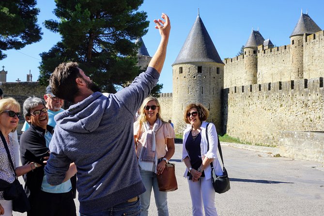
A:
<svg viewBox="0 0 324 216">
<path fill-rule="evenodd" d="M 198 182 L 193 182 L 188 179 L 189 191 L 192 202 L 192 215 L 203 216 L 202 204 L 205 209 L 205 216 L 217 216 L 215 207 L 215 190 L 212 185 L 212 180 L 206 180 L 201 177 Z"/>
</svg>

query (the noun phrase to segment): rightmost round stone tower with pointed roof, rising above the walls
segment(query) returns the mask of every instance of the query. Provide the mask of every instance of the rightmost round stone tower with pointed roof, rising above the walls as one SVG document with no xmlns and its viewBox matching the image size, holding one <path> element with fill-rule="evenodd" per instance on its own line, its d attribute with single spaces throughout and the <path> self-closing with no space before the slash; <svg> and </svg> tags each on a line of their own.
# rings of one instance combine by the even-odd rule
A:
<svg viewBox="0 0 324 216">
<path fill-rule="evenodd" d="M 321 28 L 309 17 L 301 13 L 301 16 L 290 35 L 291 45 L 291 79 L 304 78 L 304 34 L 313 34 L 321 31 Z"/>
</svg>

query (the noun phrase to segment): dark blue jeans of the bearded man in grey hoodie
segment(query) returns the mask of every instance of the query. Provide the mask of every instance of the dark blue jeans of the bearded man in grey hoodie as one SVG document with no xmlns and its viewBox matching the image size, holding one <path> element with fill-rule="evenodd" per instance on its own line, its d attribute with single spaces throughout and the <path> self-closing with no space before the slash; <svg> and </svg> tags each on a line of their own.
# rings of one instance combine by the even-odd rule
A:
<svg viewBox="0 0 324 216">
<path fill-rule="evenodd" d="M 140 201 L 123 202 L 100 212 L 80 216 L 140 216 Z"/>
</svg>

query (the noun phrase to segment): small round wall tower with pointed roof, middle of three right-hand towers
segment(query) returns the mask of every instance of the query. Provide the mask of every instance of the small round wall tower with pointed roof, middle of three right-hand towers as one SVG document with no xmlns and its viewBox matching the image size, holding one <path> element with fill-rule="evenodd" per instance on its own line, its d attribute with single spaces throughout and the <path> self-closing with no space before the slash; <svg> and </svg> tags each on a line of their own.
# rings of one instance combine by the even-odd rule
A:
<svg viewBox="0 0 324 216">
<path fill-rule="evenodd" d="M 244 85 L 251 85 L 257 83 L 258 73 L 258 46 L 262 45 L 264 38 L 259 31 L 253 31 L 244 46 L 244 65 L 245 65 L 245 79 Z"/>
</svg>

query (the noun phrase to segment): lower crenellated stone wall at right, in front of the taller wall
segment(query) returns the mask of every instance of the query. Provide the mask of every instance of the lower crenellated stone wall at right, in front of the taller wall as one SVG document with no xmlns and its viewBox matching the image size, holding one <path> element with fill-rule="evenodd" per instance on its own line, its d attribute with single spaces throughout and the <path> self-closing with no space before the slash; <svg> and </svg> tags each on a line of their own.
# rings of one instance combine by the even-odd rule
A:
<svg viewBox="0 0 324 216">
<path fill-rule="evenodd" d="M 323 77 L 231 87 L 223 91 L 224 131 L 278 145 L 280 131 L 324 131 Z"/>
</svg>

